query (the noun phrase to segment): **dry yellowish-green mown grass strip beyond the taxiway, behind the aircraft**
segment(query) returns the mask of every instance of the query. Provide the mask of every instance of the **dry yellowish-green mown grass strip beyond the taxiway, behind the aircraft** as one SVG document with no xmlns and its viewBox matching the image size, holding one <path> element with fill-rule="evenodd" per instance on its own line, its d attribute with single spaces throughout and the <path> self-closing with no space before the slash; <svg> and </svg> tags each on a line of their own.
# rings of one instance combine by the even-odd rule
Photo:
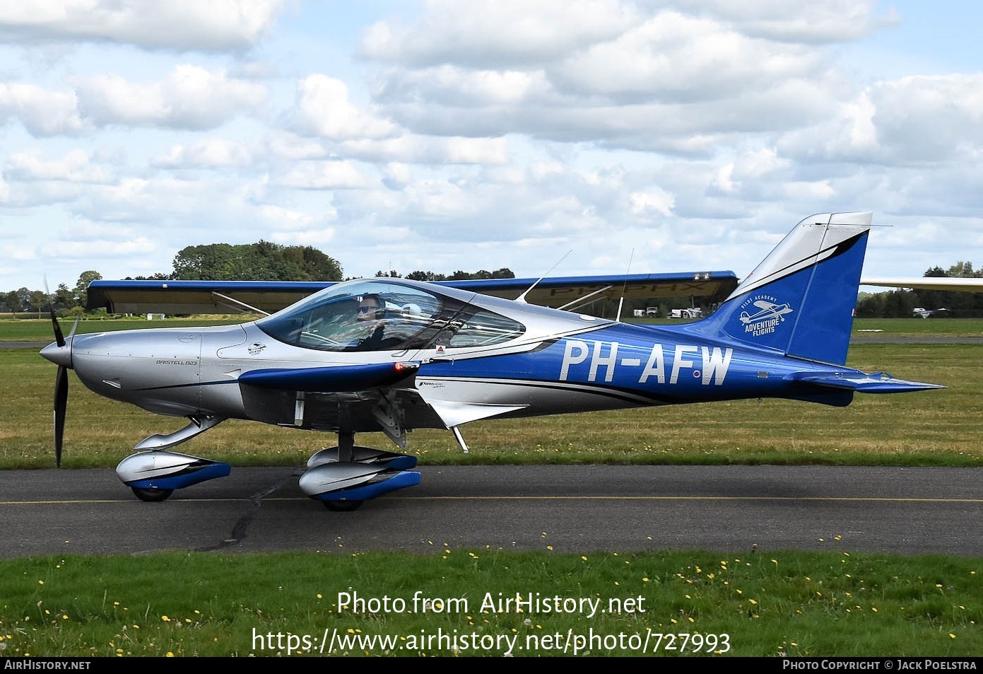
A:
<svg viewBox="0 0 983 674">
<path fill-rule="evenodd" d="M 916 321 L 915 323 L 933 323 Z M 0 338 L 2 340 L 2 338 Z M 825 463 L 983 465 L 983 344 L 856 343 L 849 364 L 949 388 L 857 395 L 847 407 L 792 400 L 728 402 L 489 420 L 410 434 L 422 463 Z M 0 428 L 0 468 L 53 464 L 55 367 L 29 348 L 0 349 L 0 399 L 17 400 Z M 154 433 L 185 425 L 95 396 L 70 373 L 64 465 L 115 465 Z M 230 420 L 183 451 L 238 465 L 300 465 L 333 434 Z M 394 449 L 382 434 L 359 443 Z"/>
</svg>

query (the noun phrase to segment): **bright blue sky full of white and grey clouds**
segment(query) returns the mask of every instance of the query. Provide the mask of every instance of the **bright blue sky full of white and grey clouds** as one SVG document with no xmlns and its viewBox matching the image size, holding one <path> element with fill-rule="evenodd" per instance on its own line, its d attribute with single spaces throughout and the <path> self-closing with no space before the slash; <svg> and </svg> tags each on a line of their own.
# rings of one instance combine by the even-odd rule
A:
<svg viewBox="0 0 983 674">
<path fill-rule="evenodd" d="M 891 225 L 866 276 L 981 267 L 980 26 L 969 0 L 2 3 L 0 291 L 260 240 L 345 276 L 743 276 L 837 211 Z"/>
</svg>

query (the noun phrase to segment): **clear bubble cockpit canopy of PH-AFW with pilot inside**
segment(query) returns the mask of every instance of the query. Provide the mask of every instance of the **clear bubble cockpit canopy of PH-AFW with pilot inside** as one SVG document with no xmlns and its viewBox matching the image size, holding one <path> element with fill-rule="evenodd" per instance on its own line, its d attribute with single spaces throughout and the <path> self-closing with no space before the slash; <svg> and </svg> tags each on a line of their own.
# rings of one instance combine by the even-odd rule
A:
<svg viewBox="0 0 983 674">
<path fill-rule="evenodd" d="M 484 346 L 525 332 L 500 314 L 387 280 L 332 285 L 257 326 L 280 341 L 322 351 Z"/>
</svg>

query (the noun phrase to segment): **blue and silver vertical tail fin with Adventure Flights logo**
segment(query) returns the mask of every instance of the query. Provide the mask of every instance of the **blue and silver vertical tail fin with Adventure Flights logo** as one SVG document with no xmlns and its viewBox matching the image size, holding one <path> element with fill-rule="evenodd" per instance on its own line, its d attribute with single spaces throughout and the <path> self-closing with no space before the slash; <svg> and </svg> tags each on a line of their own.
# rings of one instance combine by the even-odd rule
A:
<svg viewBox="0 0 983 674">
<path fill-rule="evenodd" d="M 696 324 L 790 356 L 846 362 L 870 213 L 811 215 L 781 243 L 714 314 Z"/>
</svg>

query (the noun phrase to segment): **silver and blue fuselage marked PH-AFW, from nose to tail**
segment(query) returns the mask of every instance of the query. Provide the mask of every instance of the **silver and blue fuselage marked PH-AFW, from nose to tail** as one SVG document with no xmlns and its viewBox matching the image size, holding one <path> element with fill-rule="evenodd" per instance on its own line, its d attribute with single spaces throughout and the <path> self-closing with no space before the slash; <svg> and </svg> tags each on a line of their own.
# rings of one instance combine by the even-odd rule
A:
<svg viewBox="0 0 983 674">
<path fill-rule="evenodd" d="M 327 337 L 327 331 L 304 337 L 302 329 L 319 310 L 369 292 L 396 300 L 388 302 L 394 309 L 409 292 L 424 316 L 411 317 L 409 330 L 396 325 L 402 316 L 386 318 L 386 330 L 403 330 L 402 340 L 373 348 L 350 346 Z M 66 348 L 79 379 L 106 398 L 172 416 L 283 425 L 297 420 L 293 401 L 306 398 L 341 410 L 321 411 L 320 420 L 311 421 L 322 429 L 344 425 L 346 404 L 375 399 L 377 392 L 358 390 L 358 370 L 378 363 L 419 364 L 412 379 L 393 387 L 404 428 L 701 400 L 815 399 L 793 373 L 834 367 L 856 372 L 709 339 L 684 327 L 617 323 L 466 291 L 437 292 L 402 279 L 342 283 L 318 296 L 237 326 L 80 335 Z M 355 324 L 342 327 L 354 330 Z M 331 330 L 337 336 L 340 329 Z M 240 382 L 244 373 L 258 370 L 334 367 L 353 373 L 351 391 L 338 392 L 336 386 L 318 391 L 315 385 L 274 396 Z M 820 401 L 845 404 L 849 395 Z M 437 414 L 413 413 L 411 402 Z M 365 420 L 351 423 L 354 430 L 371 430 Z"/>
</svg>

